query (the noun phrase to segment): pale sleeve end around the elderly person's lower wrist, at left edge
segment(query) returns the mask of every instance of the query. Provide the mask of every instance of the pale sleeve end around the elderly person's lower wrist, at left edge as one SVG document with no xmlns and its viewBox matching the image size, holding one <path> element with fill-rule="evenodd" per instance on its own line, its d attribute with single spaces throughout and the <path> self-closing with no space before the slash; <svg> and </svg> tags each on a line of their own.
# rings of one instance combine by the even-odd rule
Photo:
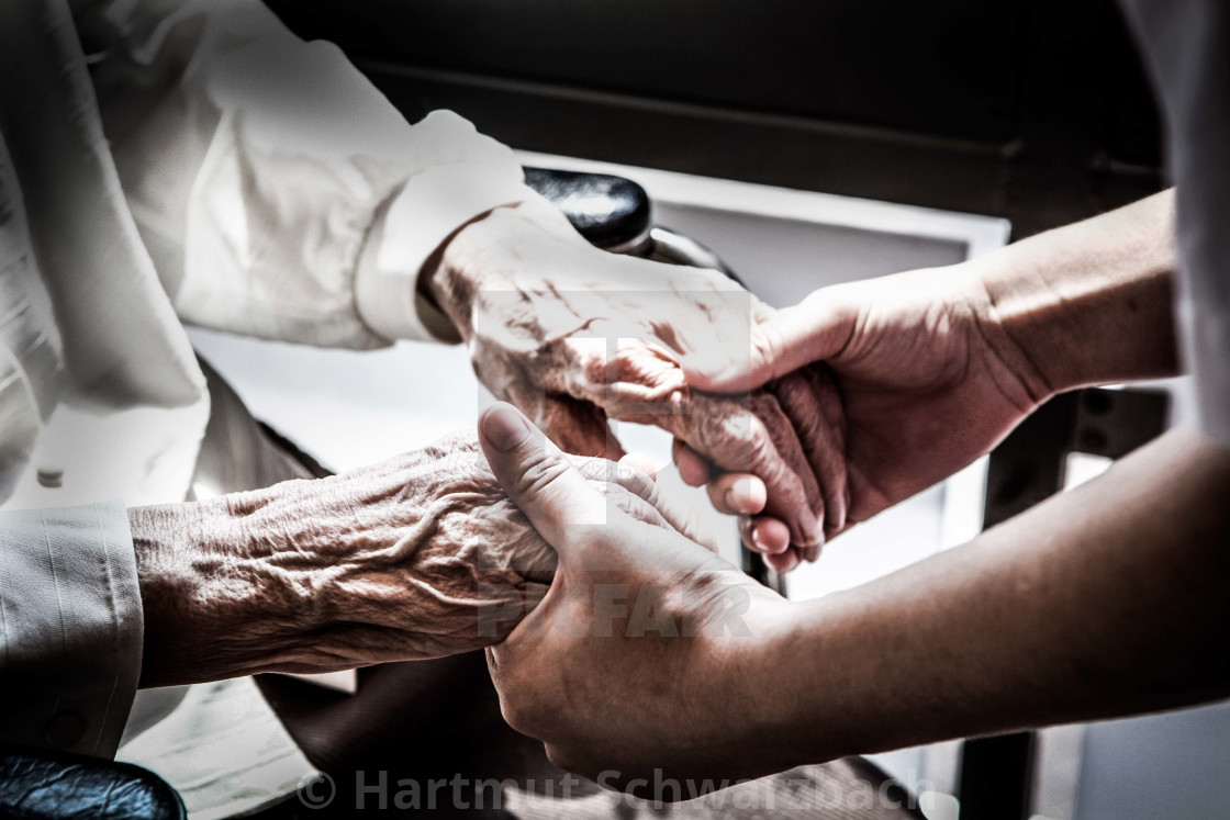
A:
<svg viewBox="0 0 1230 820">
<path fill-rule="evenodd" d="M 0 513 L 0 740 L 113 757 L 145 622 L 119 502 Z"/>
</svg>

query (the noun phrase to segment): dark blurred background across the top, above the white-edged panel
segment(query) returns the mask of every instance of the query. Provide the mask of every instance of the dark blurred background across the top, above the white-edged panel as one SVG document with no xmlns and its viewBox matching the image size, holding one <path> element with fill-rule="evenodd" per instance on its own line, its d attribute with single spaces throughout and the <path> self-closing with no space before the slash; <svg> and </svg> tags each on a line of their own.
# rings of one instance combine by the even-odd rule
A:
<svg viewBox="0 0 1230 820">
<path fill-rule="evenodd" d="M 514 148 L 946 208 L 1016 239 L 1162 186 L 1114 0 L 269 0 L 407 116 Z"/>
</svg>

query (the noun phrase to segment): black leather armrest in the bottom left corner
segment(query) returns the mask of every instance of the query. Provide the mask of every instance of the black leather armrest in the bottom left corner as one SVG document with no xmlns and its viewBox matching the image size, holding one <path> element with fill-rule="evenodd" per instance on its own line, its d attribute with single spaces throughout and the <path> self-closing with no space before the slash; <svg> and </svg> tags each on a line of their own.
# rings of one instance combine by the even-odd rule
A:
<svg viewBox="0 0 1230 820">
<path fill-rule="evenodd" d="M 183 820 L 183 800 L 132 763 L 0 746 L 0 816 L 28 820 Z"/>
</svg>

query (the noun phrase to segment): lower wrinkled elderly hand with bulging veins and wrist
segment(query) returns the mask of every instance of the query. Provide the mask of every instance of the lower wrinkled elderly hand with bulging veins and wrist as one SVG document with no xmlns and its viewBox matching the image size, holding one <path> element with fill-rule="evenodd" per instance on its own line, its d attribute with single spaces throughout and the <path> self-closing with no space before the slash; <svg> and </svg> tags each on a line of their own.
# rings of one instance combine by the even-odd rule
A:
<svg viewBox="0 0 1230 820">
<path fill-rule="evenodd" d="M 613 509 L 697 537 L 640 471 L 572 465 Z M 129 522 L 141 686 L 478 649 L 533 609 L 556 564 L 472 435 L 331 478 L 133 508 Z"/>
</svg>

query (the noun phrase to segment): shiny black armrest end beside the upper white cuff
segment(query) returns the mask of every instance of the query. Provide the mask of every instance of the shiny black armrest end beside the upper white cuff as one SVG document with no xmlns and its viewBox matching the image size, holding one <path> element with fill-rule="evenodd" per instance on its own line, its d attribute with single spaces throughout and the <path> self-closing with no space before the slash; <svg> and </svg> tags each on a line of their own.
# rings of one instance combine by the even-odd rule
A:
<svg viewBox="0 0 1230 820">
<path fill-rule="evenodd" d="M 649 242 L 649 197 L 631 179 L 525 168 L 525 184 L 562 210 L 590 245 L 614 253 L 637 253 Z"/>
</svg>

